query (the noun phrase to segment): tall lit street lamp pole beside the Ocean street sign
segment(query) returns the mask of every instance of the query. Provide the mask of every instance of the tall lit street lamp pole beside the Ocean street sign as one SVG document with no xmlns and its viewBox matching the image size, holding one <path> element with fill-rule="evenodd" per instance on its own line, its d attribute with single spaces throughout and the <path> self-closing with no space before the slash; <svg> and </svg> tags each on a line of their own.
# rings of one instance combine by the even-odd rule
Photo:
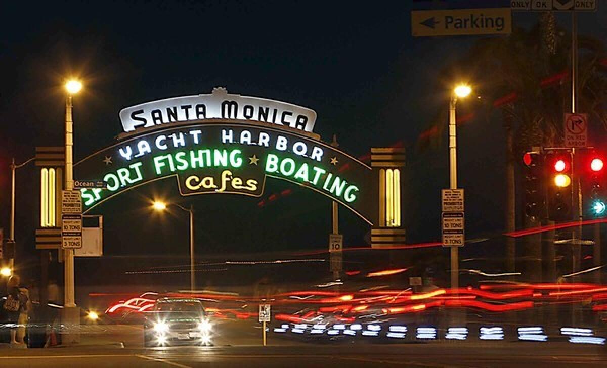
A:
<svg viewBox="0 0 607 368">
<path fill-rule="evenodd" d="M 73 122 L 72 122 L 72 96 L 80 92 L 82 83 L 70 80 L 66 83 L 66 181 L 65 189 L 73 190 Z M 67 308 L 76 306 L 74 303 L 74 250 L 65 249 L 63 253 L 64 298 L 63 305 Z"/>
</svg>

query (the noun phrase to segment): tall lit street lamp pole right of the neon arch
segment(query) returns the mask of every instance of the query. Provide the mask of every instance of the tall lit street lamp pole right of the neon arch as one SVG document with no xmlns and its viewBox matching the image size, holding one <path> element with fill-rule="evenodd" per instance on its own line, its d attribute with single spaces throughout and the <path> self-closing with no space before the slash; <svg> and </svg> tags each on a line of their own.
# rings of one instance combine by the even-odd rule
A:
<svg viewBox="0 0 607 368">
<path fill-rule="evenodd" d="M 467 84 L 460 84 L 451 94 L 449 102 L 449 183 L 450 189 L 457 189 L 457 119 L 455 107 L 458 98 L 466 98 L 472 93 Z M 451 287 L 459 287 L 459 247 L 451 246 Z"/>
</svg>

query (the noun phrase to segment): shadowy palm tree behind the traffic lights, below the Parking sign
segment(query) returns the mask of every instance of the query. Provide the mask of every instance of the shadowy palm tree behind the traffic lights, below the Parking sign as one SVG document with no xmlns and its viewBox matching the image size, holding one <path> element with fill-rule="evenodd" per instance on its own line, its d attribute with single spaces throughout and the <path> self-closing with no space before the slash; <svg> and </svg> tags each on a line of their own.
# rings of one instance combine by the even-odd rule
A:
<svg viewBox="0 0 607 368">
<path fill-rule="evenodd" d="M 441 75 L 455 75 L 465 70 L 470 81 L 483 90 L 489 109 L 499 109 L 506 135 L 506 231 L 515 228 L 515 162 L 532 147 L 555 147 L 563 144 L 563 113 L 570 111 L 571 36 L 558 28 L 552 13 L 544 13 L 530 30 L 515 28 L 511 35 L 477 41 L 458 62 Z M 605 47 L 595 39 L 578 37 L 578 112 L 588 112 L 591 124 L 607 128 L 607 69 Z M 486 78 L 486 76 L 490 76 Z M 488 111 L 487 116 L 489 114 Z M 444 119 L 433 122 L 422 133 L 418 147 L 427 147 L 440 134 Z M 537 219 L 524 216 L 525 226 L 538 225 Z M 528 238 L 525 252 L 531 279 L 541 278 L 541 239 Z M 547 242 L 546 255 L 554 260 L 554 242 Z M 538 267 L 539 266 L 539 267 Z M 549 269 L 554 272 L 554 262 Z M 515 268 L 515 243 L 509 239 L 506 269 Z M 538 273 L 539 271 L 539 273 Z M 550 273 L 552 273 L 550 272 Z"/>
</svg>

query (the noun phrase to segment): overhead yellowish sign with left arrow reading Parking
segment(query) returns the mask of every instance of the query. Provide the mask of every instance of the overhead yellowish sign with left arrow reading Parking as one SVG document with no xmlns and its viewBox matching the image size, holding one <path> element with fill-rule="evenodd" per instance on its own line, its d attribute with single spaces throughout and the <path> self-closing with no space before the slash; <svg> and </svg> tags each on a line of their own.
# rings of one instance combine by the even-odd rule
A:
<svg viewBox="0 0 607 368">
<path fill-rule="evenodd" d="M 510 8 L 411 12 L 413 36 L 509 35 L 511 32 Z"/>
</svg>

